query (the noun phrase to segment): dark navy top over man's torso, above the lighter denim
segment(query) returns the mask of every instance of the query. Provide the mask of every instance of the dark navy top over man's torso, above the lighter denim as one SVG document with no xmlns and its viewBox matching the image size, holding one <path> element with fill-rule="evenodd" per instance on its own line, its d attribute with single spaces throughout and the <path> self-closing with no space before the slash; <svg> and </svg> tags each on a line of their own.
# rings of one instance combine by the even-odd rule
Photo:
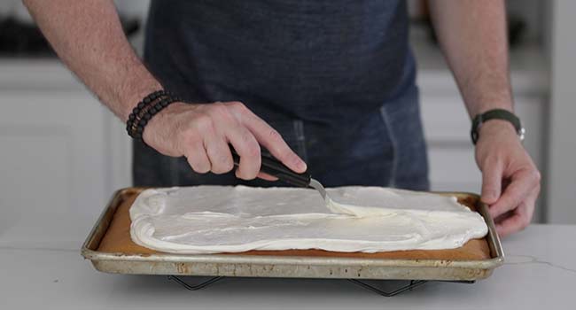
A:
<svg viewBox="0 0 576 310">
<path fill-rule="evenodd" d="M 195 103 L 346 124 L 414 84 L 402 0 L 153 0 L 145 59 Z"/>
</svg>

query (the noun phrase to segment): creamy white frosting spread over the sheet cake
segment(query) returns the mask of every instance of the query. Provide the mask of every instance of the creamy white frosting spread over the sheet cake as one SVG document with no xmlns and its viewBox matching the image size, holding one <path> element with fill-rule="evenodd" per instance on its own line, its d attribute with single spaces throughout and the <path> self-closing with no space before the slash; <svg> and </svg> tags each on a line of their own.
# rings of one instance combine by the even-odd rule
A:
<svg viewBox="0 0 576 310">
<path fill-rule="evenodd" d="M 379 187 L 315 190 L 197 186 L 144 190 L 130 208 L 136 244 L 175 253 L 452 249 L 486 236 L 454 197 Z"/>
</svg>

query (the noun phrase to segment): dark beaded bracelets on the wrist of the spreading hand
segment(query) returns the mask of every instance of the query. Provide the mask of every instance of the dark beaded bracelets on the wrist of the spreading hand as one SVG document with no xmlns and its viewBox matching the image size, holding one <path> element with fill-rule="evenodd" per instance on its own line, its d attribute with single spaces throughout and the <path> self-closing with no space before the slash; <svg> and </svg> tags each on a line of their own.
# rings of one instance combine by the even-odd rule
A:
<svg viewBox="0 0 576 310">
<path fill-rule="evenodd" d="M 165 90 L 157 90 L 144 97 L 128 115 L 128 120 L 126 121 L 128 136 L 143 141 L 142 134 L 148 121 L 162 109 L 176 101 L 180 101 L 180 99 L 173 97 L 171 93 Z"/>
</svg>

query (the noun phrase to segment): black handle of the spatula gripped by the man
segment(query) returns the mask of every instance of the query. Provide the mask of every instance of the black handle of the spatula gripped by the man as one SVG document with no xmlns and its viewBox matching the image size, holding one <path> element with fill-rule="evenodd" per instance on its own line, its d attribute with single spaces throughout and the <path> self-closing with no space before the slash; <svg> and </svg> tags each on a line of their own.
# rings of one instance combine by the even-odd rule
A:
<svg viewBox="0 0 576 310">
<path fill-rule="evenodd" d="M 232 151 L 232 159 L 234 159 L 234 165 L 237 166 L 240 163 L 240 156 L 232 146 L 230 146 L 230 151 Z M 299 187 L 308 187 L 310 184 L 310 174 L 307 172 L 301 174 L 293 172 L 289 167 L 286 167 L 278 159 L 274 158 L 274 156 L 272 156 L 269 151 L 262 150 L 261 159 L 261 172 L 276 176 L 280 181 L 284 181 Z"/>
</svg>

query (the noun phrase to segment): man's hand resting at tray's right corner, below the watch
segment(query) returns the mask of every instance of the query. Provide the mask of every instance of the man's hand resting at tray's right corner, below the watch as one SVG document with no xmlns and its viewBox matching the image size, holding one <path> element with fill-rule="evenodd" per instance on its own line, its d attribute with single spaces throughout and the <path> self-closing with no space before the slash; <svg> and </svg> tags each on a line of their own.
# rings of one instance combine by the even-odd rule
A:
<svg viewBox="0 0 576 310">
<path fill-rule="evenodd" d="M 482 171 L 482 201 L 490 206 L 498 234 L 507 236 L 528 226 L 541 176 L 509 122 L 482 124 L 476 162 Z"/>
</svg>

